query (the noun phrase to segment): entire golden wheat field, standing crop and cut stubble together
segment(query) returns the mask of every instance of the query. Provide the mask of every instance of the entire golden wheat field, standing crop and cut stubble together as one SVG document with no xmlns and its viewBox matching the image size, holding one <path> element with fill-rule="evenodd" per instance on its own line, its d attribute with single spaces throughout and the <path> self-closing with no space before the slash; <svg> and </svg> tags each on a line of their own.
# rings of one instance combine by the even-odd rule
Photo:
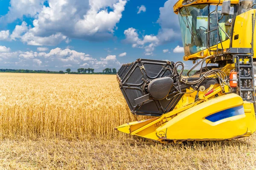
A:
<svg viewBox="0 0 256 170">
<path fill-rule="evenodd" d="M 119 133 L 134 117 L 114 75 L 0 73 L 0 170 L 253 170 L 256 135 L 160 144 Z"/>
</svg>

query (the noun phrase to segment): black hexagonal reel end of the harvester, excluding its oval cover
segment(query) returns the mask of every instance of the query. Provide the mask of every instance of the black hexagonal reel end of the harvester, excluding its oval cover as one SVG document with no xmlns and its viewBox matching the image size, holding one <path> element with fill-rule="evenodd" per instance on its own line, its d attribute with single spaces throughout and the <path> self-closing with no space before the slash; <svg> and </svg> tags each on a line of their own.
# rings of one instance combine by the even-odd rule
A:
<svg viewBox="0 0 256 170">
<path fill-rule="evenodd" d="M 134 99 L 147 95 L 145 85 L 156 78 L 171 76 L 174 62 L 165 60 L 137 59 L 135 62 L 122 65 L 117 73 L 120 89 L 133 114 L 161 116 L 172 111 L 183 94 L 167 99 L 149 99 L 139 105 Z"/>
</svg>

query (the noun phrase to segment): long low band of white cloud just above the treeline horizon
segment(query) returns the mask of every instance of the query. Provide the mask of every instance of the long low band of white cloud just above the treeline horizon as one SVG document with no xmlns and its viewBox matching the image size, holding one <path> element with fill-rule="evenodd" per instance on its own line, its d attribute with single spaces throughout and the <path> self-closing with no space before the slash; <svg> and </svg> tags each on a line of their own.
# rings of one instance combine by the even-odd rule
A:
<svg viewBox="0 0 256 170">
<path fill-rule="evenodd" d="M 46 52 L 15 51 L 0 52 L 1 68 L 22 68 L 22 69 L 50 69 L 71 68 L 76 71 L 81 66 L 94 68 L 95 71 L 102 71 L 104 68 L 119 69 L 121 63 L 115 55 L 108 55 L 103 58 L 89 57 L 89 54 L 70 50 L 68 48 L 54 48 Z M 58 70 L 56 70 L 58 71 Z"/>
</svg>

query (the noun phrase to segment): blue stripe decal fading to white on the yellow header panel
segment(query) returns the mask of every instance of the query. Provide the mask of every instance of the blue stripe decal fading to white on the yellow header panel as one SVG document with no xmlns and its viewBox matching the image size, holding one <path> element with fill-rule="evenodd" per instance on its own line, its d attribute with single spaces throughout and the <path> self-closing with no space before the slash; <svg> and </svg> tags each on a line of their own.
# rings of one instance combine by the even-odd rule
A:
<svg viewBox="0 0 256 170">
<path fill-rule="evenodd" d="M 211 122 L 217 122 L 222 119 L 226 119 L 228 117 L 237 116 L 244 114 L 244 107 L 239 106 L 235 108 L 226 109 L 224 111 L 220 111 L 217 113 L 214 113 L 210 116 L 207 116 L 205 119 L 211 121 Z"/>
</svg>

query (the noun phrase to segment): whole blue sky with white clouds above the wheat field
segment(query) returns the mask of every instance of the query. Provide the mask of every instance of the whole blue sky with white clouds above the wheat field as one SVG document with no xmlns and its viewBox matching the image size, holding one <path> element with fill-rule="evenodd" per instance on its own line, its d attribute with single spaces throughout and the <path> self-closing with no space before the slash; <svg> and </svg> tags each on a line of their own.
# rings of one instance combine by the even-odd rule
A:
<svg viewBox="0 0 256 170">
<path fill-rule="evenodd" d="M 0 68 L 102 71 L 137 58 L 182 61 L 174 3 L 0 0 Z"/>
</svg>

